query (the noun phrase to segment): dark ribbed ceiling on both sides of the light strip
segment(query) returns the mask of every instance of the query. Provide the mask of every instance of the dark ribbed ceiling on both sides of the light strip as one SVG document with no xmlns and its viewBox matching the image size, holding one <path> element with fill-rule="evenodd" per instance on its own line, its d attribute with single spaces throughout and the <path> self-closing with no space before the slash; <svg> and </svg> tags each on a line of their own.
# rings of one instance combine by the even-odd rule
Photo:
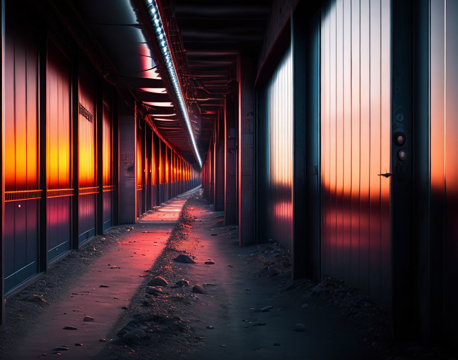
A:
<svg viewBox="0 0 458 360">
<path fill-rule="evenodd" d="M 201 156 L 208 149 L 218 108 L 228 93 L 227 84 L 237 78 L 238 54 L 243 49 L 259 53 L 271 2 L 158 1 L 167 17 L 176 65 L 186 78 L 182 83 L 192 83 L 193 91 L 186 94 Z M 185 159 L 195 163 L 187 134 L 172 104 L 174 99 L 161 77 L 164 74 L 159 74 L 151 43 L 144 36 L 152 29 L 148 29 L 149 18 L 143 16 L 143 1 L 77 0 L 74 6 L 113 65 L 107 78 L 117 86 L 131 88 L 148 108 L 153 126 Z"/>
</svg>

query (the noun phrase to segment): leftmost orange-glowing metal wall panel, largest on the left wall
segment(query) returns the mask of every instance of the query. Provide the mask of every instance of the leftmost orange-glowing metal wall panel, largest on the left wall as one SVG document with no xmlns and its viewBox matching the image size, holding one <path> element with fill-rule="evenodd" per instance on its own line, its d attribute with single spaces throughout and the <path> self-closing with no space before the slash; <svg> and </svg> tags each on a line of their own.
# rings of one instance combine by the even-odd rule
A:
<svg viewBox="0 0 458 360">
<path fill-rule="evenodd" d="M 8 2 L 4 54 L 5 292 L 38 272 L 38 38 Z M 25 22 L 23 22 L 25 21 Z"/>
</svg>

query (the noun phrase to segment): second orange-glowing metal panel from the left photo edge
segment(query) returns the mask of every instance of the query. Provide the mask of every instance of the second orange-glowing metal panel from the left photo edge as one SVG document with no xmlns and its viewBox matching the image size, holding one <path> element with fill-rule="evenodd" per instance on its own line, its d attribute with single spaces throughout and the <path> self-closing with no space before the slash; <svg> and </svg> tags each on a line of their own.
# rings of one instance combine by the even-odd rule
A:
<svg viewBox="0 0 458 360">
<path fill-rule="evenodd" d="M 48 261 L 71 249 L 71 65 L 48 41 L 46 75 Z M 71 190 L 70 190 L 71 189 Z"/>
</svg>

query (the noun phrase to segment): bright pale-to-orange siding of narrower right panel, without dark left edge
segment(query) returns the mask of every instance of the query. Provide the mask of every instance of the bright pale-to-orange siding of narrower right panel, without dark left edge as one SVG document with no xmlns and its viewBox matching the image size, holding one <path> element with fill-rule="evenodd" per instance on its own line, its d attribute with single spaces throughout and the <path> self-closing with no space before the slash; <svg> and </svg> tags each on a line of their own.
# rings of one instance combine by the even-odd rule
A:
<svg viewBox="0 0 458 360">
<path fill-rule="evenodd" d="M 292 59 L 288 48 L 267 85 L 268 237 L 291 249 Z"/>
</svg>

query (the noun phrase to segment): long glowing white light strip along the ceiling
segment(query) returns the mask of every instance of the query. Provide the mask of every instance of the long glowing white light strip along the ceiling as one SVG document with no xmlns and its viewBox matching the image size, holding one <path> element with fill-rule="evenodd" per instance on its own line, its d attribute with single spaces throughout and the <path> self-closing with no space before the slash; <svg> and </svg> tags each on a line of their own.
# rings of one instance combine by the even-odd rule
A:
<svg viewBox="0 0 458 360">
<path fill-rule="evenodd" d="M 194 155 L 196 156 L 199 166 L 202 167 L 202 160 L 200 159 L 199 151 L 197 150 L 196 140 L 194 139 L 194 133 L 191 128 L 191 121 L 189 119 L 188 109 L 186 107 L 185 99 L 181 93 L 180 83 L 178 81 L 178 76 L 175 71 L 175 66 L 173 64 L 172 55 L 169 49 L 169 44 L 167 43 L 167 37 L 162 25 L 161 16 L 157 8 L 156 0 L 145 0 L 146 6 L 148 7 L 148 13 L 151 19 L 151 24 L 156 34 L 157 44 L 161 50 L 162 57 L 166 64 L 167 72 L 169 73 L 170 81 L 173 85 L 173 91 L 178 100 L 178 104 L 181 110 L 182 116 L 185 118 L 186 128 L 188 131 L 188 137 L 191 141 L 191 146 L 194 150 Z"/>
</svg>

